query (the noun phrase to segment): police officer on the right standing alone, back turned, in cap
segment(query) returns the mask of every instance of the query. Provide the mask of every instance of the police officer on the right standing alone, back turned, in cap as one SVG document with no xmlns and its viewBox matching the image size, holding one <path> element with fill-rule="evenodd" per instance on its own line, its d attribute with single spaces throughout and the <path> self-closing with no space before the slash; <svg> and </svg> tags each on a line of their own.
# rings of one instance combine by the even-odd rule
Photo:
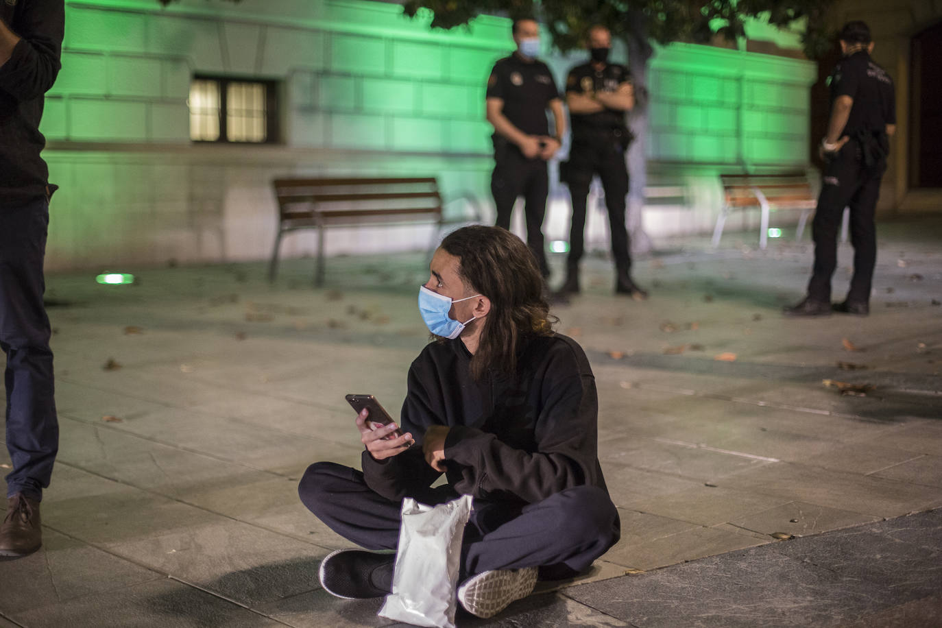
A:
<svg viewBox="0 0 942 628">
<path fill-rule="evenodd" d="M 792 316 L 821 316 L 832 310 L 869 314 L 877 253 L 874 214 L 889 154 L 889 137 L 896 131 L 896 104 L 893 81 L 870 59 L 873 41 L 867 24 L 845 24 L 839 39 L 843 58 L 829 79 L 831 120 L 820 145 L 820 155 L 827 165 L 813 223 L 815 265 L 807 296 L 785 310 Z M 851 208 L 853 278 L 847 298 L 832 306 L 837 226 L 847 206 Z"/>
</svg>

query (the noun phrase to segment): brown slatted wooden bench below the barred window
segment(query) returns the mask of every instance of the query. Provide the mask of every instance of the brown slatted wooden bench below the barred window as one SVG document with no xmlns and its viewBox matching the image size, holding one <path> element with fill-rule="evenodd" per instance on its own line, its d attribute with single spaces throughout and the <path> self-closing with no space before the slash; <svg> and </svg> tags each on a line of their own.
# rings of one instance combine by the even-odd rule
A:
<svg viewBox="0 0 942 628">
<path fill-rule="evenodd" d="M 278 233 L 271 252 L 268 280 L 278 272 L 278 250 L 284 233 L 317 229 L 314 283 L 324 283 L 324 231 L 328 227 L 401 225 L 432 222 L 443 225 L 442 197 L 434 177 L 275 179 Z"/>
</svg>

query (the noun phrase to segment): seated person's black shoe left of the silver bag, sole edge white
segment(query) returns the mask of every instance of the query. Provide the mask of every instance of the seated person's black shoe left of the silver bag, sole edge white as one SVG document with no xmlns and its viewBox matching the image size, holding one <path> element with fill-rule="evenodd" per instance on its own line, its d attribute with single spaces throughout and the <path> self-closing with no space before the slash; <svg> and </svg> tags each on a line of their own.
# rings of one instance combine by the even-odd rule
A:
<svg viewBox="0 0 942 628">
<path fill-rule="evenodd" d="M 344 600 L 382 598 L 393 589 L 396 555 L 337 550 L 320 561 L 320 586 Z"/>
</svg>

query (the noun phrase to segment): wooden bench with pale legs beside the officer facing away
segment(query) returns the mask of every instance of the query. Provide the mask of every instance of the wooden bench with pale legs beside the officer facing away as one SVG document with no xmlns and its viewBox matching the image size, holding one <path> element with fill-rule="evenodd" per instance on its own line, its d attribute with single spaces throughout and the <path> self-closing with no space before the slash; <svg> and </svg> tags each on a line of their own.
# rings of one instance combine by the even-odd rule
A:
<svg viewBox="0 0 942 628">
<path fill-rule="evenodd" d="M 723 208 L 713 229 L 713 246 L 720 246 L 723 225 L 729 213 L 736 209 L 758 207 L 762 212 L 759 221 L 759 249 L 769 242 L 769 216 L 780 209 L 800 209 L 798 237 L 804 231 L 808 215 L 817 205 L 814 190 L 805 172 L 780 172 L 767 174 L 721 174 L 723 184 Z"/>
</svg>

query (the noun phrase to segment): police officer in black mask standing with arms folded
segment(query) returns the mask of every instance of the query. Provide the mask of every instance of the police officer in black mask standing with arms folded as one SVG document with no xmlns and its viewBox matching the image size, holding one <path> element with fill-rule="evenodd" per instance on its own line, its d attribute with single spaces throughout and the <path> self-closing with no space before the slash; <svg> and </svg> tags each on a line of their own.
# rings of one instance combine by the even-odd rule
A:
<svg viewBox="0 0 942 628">
<path fill-rule="evenodd" d="M 560 178 L 569 185 L 573 219 L 566 281 L 557 294 L 564 298 L 579 291 L 586 198 L 593 175 L 598 174 L 609 210 L 611 252 L 616 270 L 615 292 L 647 298 L 647 293 L 631 280 L 631 256 L 625 229 L 625 195 L 628 193 L 625 151 L 631 141 L 631 134 L 625 126 L 625 112 L 635 105 L 634 90 L 628 69 L 608 61 L 611 49 L 609 29 L 593 26 L 587 43 L 592 60 L 573 68 L 566 78 L 566 105 L 573 124 L 573 144 L 568 163 L 560 167 Z"/>
</svg>

